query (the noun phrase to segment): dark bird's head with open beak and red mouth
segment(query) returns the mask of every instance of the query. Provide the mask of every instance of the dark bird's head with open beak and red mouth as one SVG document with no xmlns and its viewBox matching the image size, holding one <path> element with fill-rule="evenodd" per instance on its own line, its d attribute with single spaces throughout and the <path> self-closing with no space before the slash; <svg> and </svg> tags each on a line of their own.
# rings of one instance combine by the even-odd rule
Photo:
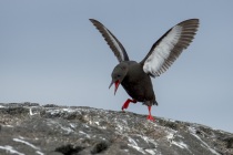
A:
<svg viewBox="0 0 233 155">
<path fill-rule="evenodd" d="M 118 64 L 113 71 L 112 71 L 112 82 L 109 85 L 109 89 L 112 86 L 112 84 L 115 84 L 114 94 L 118 91 L 118 86 L 121 84 L 123 79 L 125 78 L 128 73 L 128 65 L 125 63 Z"/>
</svg>

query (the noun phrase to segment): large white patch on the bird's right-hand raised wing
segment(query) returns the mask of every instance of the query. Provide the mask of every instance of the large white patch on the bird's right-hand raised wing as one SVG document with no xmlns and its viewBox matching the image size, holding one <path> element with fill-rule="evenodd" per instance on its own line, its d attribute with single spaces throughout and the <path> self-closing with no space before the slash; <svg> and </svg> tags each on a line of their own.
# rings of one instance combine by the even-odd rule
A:
<svg viewBox="0 0 233 155">
<path fill-rule="evenodd" d="M 154 48 L 151 55 L 145 60 L 143 70 L 145 73 L 158 75 L 156 72 L 161 70 L 165 60 L 169 58 L 172 49 L 181 38 L 182 27 L 175 25 Z"/>
</svg>

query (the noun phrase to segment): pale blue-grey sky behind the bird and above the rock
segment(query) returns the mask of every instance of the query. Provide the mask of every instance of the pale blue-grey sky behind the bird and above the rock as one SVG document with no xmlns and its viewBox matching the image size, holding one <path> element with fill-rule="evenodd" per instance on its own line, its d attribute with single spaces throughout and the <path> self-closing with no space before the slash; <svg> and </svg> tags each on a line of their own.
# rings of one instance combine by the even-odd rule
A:
<svg viewBox="0 0 233 155">
<path fill-rule="evenodd" d="M 90 18 L 141 61 L 171 27 L 200 19 L 191 45 L 153 79 L 152 114 L 233 133 L 233 1 L 0 1 L 0 102 L 120 111 L 129 97 L 109 90 L 115 56 Z M 130 112 L 148 114 L 141 103 Z"/>
</svg>

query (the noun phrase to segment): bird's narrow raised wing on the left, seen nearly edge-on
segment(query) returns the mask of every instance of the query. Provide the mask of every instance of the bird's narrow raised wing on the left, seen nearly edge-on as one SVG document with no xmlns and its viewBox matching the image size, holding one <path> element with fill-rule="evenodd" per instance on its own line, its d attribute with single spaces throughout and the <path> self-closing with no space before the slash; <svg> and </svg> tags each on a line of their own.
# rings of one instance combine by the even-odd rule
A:
<svg viewBox="0 0 233 155">
<path fill-rule="evenodd" d="M 101 22 L 94 19 L 90 19 L 90 21 L 103 35 L 104 40 L 113 51 L 114 55 L 118 58 L 118 61 L 129 61 L 126 51 L 124 50 L 124 46 L 120 43 L 120 41 Z"/>
</svg>

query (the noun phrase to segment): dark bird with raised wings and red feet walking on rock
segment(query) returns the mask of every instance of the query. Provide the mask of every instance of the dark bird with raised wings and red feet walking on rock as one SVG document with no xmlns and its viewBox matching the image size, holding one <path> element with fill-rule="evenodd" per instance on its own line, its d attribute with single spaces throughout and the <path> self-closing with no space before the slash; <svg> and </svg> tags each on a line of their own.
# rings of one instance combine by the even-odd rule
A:
<svg viewBox="0 0 233 155">
<path fill-rule="evenodd" d="M 121 110 L 126 110 L 130 103 L 142 102 L 149 110 L 146 120 L 154 122 L 155 118 L 151 115 L 151 106 L 158 105 L 158 102 L 151 78 L 164 73 L 183 50 L 190 45 L 199 29 L 200 20 L 188 19 L 169 29 L 140 62 L 129 59 L 124 46 L 107 27 L 95 19 L 89 20 L 102 34 L 119 61 L 119 64 L 112 71 L 112 81 L 109 89 L 114 84 L 115 94 L 121 84 L 131 96 L 124 102 Z"/>
</svg>

